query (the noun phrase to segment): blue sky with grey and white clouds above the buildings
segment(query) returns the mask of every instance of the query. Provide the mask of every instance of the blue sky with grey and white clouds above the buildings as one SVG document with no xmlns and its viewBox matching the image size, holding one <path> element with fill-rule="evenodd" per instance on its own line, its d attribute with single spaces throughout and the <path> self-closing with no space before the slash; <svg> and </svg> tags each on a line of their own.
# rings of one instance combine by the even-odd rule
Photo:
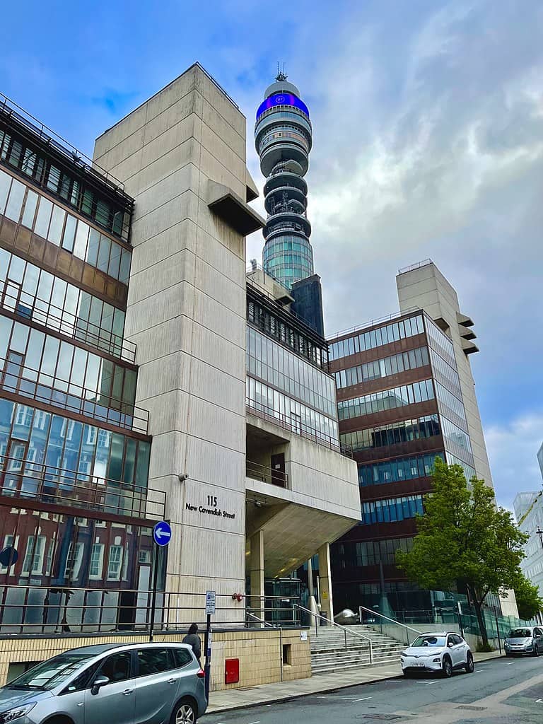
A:
<svg viewBox="0 0 543 724">
<path fill-rule="evenodd" d="M 471 361 L 497 497 L 541 487 L 540 0 L 162 0 L 2 11 L 0 90 L 86 153 L 195 60 L 248 118 L 277 60 L 311 111 L 308 214 L 327 332 L 397 308 L 432 258 L 476 323 Z M 277 9 L 274 9 L 277 8 Z M 256 203 L 258 206 L 258 202 Z M 248 258 L 261 257 L 261 237 Z"/>
</svg>

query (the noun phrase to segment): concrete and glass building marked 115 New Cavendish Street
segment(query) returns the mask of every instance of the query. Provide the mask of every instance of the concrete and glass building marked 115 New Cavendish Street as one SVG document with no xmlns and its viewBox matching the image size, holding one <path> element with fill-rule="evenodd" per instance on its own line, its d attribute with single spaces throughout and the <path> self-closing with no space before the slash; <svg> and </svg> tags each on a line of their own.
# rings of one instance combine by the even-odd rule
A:
<svg viewBox="0 0 543 724">
<path fill-rule="evenodd" d="M 1 633 L 30 636 L 0 645 L 0 681 L 93 633 L 145 640 L 160 518 L 156 640 L 202 623 L 214 590 L 230 633 L 213 686 L 235 654 L 242 683 L 308 675 L 298 634 L 275 657 L 280 639 L 254 630 L 245 657 L 245 594 L 253 623 L 277 615 L 265 581 L 319 553 L 332 611 L 329 544 L 360 515 L 356 470 L 325 340 L 285 287 L 246 279 L 245 235 L 264 221 L 245 117 L 198 64 L 93 161 L 0 111 Z"/>
</svg>

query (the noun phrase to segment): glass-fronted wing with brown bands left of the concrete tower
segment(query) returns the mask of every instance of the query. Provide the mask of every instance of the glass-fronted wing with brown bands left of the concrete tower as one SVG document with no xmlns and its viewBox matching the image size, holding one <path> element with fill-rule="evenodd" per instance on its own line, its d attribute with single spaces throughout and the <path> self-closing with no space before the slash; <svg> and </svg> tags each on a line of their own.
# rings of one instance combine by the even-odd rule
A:
<svg viewBox="0 0 543 724">
<path fill-rule="evenodd" d="M 131 214 L 111 175 L 2 106 L 0 633 L 147 615 L 151 438 L 124 339 Z"/>
</svg>

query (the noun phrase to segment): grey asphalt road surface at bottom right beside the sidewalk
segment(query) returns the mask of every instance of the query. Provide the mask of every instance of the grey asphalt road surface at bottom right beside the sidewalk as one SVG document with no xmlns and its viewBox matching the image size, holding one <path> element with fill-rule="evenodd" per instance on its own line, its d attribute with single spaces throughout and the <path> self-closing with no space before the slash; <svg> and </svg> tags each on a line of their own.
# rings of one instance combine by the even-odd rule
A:
<svg viewBox="0 0 543 724">
<path fill-rule="evenodd" d="M 211 694 L 213 696 L 213 694 Z M 202 724 L 543 724 L 543 657 L 492 659 L 450 679 L 389 679 L 202 717 Z"/>
</svg>

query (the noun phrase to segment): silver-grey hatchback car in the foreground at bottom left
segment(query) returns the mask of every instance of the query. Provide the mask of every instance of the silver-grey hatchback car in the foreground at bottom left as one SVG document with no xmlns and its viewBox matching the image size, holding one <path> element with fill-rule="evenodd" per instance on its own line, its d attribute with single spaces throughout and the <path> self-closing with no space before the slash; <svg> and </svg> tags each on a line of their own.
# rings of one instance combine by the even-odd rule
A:
<svg viewBox="0 0 543 724">
<path fill-rule="evenodd" d="M 206 707 L 186 644 L 70 649 L 0 689 L 0 724 L 194 724 Z"/>
</svg>

